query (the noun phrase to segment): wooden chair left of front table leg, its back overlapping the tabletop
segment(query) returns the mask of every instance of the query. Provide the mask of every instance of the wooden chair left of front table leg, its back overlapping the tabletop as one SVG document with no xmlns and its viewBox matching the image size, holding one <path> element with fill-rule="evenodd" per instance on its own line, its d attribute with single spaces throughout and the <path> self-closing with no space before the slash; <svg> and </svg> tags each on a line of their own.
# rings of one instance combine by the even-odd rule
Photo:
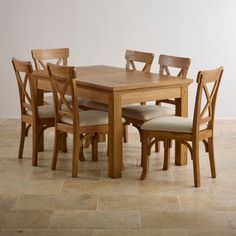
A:
<svg viewBox="0 0 236 236">
<path fill-rule="evenodd" d="M 73 135 L 72 177 L 78 175 L 78 158 L 82 143 L 86 137 L 92 137 L 92 159 L 98 160 L 97 135 L 108 132 L 108 113 L 97 110 L 79 111 L 78 88 L 74 67 L 58 66 L 48 63 L 48 71 L 53 90 L 55 109 L 55 143 L 52 158 L 52 169 L 56 169 L 59 136 L 62 132 Z M 66 100 L 70 93 L 72 101 Z"/>
</svg>

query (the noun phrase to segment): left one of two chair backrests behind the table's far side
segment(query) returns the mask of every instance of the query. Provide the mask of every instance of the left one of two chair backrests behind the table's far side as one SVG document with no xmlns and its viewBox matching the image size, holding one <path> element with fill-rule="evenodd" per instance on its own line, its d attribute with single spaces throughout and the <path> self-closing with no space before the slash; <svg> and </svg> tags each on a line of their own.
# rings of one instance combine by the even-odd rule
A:
<svg viewBox="0 0 236 236">
<path fill-rule="evenodd" d="M 150 72 L 153 58 L 153 53 L 126 50 L 126 69 L 137 70 L 135 62 L 140 62 L 144 64 L 141 70 L 144 72 Z"/>
</svg>

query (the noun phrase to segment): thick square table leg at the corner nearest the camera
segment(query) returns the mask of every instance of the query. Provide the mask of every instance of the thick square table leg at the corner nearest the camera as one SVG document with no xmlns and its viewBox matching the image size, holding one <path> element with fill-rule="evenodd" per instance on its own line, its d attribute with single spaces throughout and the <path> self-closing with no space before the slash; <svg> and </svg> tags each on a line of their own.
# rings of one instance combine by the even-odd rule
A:
<svg viewBox="0 0 236 236">
<path fill-rule="evenodd" d="M 121 97 L 119 94 L 112 94 L 109 98 L 108 142 L 108 176 L 119 178 L 122 171 Z"/>
</svg>

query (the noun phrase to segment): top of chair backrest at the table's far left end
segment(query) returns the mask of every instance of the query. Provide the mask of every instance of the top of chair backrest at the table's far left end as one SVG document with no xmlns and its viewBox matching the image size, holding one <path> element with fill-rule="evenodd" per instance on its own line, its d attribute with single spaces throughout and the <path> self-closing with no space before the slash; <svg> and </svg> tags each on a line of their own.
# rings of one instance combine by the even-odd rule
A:
<svg viewBox="0 0 236 236">
<path fill-rule="evenodd" d="M 56 65 L 67 66 L 67 59 L 69 57 L 69 48 L 55 48 L 55 49 L 32 49 L 32 57 L 34 59 L 36 70 L 46 70 L 47 62 L 53 62 Z"/>
</svg>

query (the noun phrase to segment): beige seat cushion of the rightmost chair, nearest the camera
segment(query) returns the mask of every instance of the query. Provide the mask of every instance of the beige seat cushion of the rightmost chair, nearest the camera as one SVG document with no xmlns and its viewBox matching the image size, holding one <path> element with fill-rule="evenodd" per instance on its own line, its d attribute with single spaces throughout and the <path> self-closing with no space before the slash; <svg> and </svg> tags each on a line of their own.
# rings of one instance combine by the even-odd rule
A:
<svg viewBox="0 0 236 236">
<path fill-rule="evenodd" d="M 192 133 L 193 120 L 179 116 L 163 116 L 145 122 L 142 130 L 169 131 L 180 133 Z M 206 129 L 207 125 L 202 124 L 200 130 Z"/>
</svg>

